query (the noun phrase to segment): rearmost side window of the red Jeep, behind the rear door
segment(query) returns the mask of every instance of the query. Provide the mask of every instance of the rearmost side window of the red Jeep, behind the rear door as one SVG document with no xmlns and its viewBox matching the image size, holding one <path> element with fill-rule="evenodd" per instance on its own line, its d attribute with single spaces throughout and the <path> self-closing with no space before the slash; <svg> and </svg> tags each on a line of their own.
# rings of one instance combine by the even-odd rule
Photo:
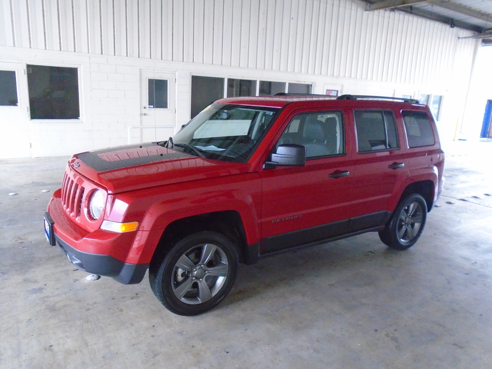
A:
<svg viewBox="0 0 492 369">
<path fill-rule="evenodd" d="M 434 145 L 434 132 L 430 125 L 429 116 L 425 112 L 403 110 L 408 147 Z"/>
</svg>

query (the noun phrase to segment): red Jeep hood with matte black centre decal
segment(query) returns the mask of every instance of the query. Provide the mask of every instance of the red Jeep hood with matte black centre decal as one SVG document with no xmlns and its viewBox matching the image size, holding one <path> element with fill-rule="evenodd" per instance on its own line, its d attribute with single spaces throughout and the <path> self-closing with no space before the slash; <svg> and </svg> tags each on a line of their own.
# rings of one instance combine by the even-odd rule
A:
<svg viewBox="0 0 492 369">
<path fill-rule="evenodd" d="M 249 169 L 245 163 L 204 159 L 156 142 L 76 154 L 68 165 L 109 193 L 241 174 Z"/>
</svg>

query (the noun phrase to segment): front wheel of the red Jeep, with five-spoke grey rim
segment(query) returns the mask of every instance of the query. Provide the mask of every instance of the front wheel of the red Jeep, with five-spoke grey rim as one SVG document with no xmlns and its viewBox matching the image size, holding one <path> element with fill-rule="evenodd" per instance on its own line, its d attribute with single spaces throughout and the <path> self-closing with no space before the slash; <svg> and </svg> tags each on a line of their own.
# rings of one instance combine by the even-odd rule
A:
<svg viewBox="0 0 492 369">
<path fill-rule="evenodd" d="M 232 288 L 238 255 L 234 243 L 217 232 L 182 238 L 149 268 L 150 286 L 166 308 L 178 315 L 211 310 Z"/>
</svg>

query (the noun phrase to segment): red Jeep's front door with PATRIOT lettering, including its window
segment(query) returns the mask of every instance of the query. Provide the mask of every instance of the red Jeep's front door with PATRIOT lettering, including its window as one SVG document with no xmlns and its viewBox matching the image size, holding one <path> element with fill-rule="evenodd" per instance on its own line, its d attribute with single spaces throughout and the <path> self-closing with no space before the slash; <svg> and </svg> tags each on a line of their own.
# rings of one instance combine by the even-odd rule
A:
<svg viewBox="0 0 492 369">
<path fill-rule="evenodd" d="M 306 147 L 303 167 L 260 170 L 262 252 L 316 242 L 347 232 L 353 166 L 343 110 L 297 111 L 275 144 Z"/>
</svg>

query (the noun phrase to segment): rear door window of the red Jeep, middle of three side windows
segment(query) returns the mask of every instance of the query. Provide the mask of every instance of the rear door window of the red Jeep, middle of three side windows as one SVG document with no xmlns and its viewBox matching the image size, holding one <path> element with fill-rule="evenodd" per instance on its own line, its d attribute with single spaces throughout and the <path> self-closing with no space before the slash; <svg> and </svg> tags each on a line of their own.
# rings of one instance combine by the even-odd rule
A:
<svg viewBox="0 0 492 369">
<path fill-rule="evenodd" d="M 399 148 L 391 110 L 355 110 L 354 118 L 359 153 Z"/>
</svg>

